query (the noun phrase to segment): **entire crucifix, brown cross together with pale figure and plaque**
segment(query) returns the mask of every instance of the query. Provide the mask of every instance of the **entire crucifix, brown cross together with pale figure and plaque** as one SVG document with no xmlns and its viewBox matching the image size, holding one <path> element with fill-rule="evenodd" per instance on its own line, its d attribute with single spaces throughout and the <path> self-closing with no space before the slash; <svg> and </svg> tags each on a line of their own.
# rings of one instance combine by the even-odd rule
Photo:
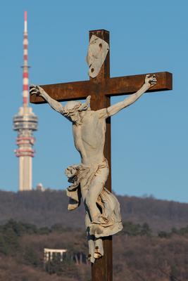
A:
<svg viewBox="0 0 188 281">
<path fill-rule="evenodd" d="M 86 221 L 89 221 L 86 226 L 87 231 L 90 232 L 88 240 L 90 239 L 91 249 L 92 243 L 94 244 L 93 256 L 90 254 L 92 281 L 112 281 L 111 234 L 120 231 L 122 225 L 118 201 L 111 194 L 111 116 L 134 103 L 145 91 L 171 90 L 172 74 L 158 72 L 110 78 L 109 32 L 106 30 L 90 31 L 89 39 L 90 44 L 98 44 L 99 53 L 101 51 L 103 54 L 96 65 L 88 57 L 90 79 L 63 84 L 31 86 L 30 101 L 31 103 L 48 102 L 54 110 L 73 123 L 75 147 L 80 151 L 82 164 L 69 166 L 65 171 L 69 182 L 72 183 L 68 188 L 69 208 L 75 209 L 80 204 L 78 188 L 81 185 L 87 213 Z M 104 52 L 103 48 L 105 48 Z M 91 52 L 90 55 L 92 55 Z M 111 106 L 111 96 L 130 94 L 130 98 Z M 84 104 L 76 101 L 84 98 L 86 98 Z M 59 103 L 61 101 L 68 101 L 68 103 L 63 107 Z M 99 145 L 96 145 L 97 140 Z M 105 158 L 101 157 L 103 152 Z M 111 219 L 108 219 L 108 212 L 111 214 Z"/>
</svg>

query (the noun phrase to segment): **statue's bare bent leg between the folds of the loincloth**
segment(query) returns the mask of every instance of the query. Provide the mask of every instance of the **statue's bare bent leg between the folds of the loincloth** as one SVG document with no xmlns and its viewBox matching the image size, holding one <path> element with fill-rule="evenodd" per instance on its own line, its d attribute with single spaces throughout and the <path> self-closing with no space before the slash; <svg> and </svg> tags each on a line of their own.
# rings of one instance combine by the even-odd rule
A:
<svg viewBox="0 0 188 281">
<path fill-rule="evenodd" d="M 85 197 L 85 204 L 89 210 L 89 215 L 91 217 L 92 222 L 100 223 L 99 217 L 101 216 L 101 212 L 99 208 L 96 206 L 96 200 L 99 197 L 101 191 L 104 188 L 106 180 L 108 178 L 108 167 L 98 169 L 94 178 L 92 180 L 91 185 L 89 186 L 89 190 Z"/>
</svg>

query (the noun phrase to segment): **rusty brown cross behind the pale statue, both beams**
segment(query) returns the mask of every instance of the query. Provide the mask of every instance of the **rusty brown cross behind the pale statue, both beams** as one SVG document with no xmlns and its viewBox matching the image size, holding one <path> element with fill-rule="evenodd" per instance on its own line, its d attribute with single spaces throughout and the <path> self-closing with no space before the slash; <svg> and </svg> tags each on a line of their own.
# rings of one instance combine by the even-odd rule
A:
<svg viewBox="0 0 188 281">
<path fill-rule="evenodd" d="M 92 30 L 89 32 L 89 39 L 96 35 L 109 44 L 109 32 L 106 30 Z M 109 44 L 110 45 L 110 44 Z M 156 74 L 157 84 L 149 89 L 153 91 L 172 90 L 173 76 L 170 72 L 158 72 Z M 101 67 L 98 76 L 88 81 L 77 81 L 63 84 L 41 85 L 49 93 L 51 98 L 58 101 L 81 100 L 92 96 L 92 110 L 99 110 L 110 106 L 111 96 L 121 96 L 136 92 L 144 84 L 146 74 L 132 75 L 125 77 L 110 78 L 110 53 Z M 31 103 L 46 103 L 39 96 L 30 96 Z M 104 155 L 108 159 L 110 174 L 106 182 L 106 188 L 111 191 L 111 119 L 106 120 L 106 143 Z M 92 281 L 112 281 L 113 263 L 112 263 L 112 237 L 104 237 L 104 256 L 97 259 L 92 264 Z"/>
</svg>

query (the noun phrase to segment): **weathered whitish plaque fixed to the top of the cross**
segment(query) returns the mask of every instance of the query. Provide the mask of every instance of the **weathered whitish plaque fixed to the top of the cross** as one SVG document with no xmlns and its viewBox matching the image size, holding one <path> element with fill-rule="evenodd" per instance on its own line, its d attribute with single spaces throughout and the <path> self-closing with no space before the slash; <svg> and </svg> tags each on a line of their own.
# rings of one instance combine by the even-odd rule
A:
<svg viewBox="0 0 188 281">
<path fill-rule="evenodd" d="M 89 77 L 96 77 L 101 70 L 101 66 L 104 64 L 106 55 L 109 51 L 109 45 L 103 39 L 92 35 L 89 41 L 89 47 L 87 51 L 87 64 L 89 66 Z"/>
</svg>

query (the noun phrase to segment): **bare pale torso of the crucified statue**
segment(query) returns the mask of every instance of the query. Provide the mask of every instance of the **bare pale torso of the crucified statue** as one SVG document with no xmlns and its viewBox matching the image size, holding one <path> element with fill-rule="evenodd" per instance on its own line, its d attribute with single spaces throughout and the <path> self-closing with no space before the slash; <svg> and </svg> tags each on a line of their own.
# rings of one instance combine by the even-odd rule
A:
<svg viewBox="0 0 188 281">
<path fill-rule="evenodd" d="M 82 124 L 73 124 L 75 148 L 80 152 L 83 164 L 103 161 L 105 133 L 106 120 L 92 110 L 82 113 Z"/>
</svg>

